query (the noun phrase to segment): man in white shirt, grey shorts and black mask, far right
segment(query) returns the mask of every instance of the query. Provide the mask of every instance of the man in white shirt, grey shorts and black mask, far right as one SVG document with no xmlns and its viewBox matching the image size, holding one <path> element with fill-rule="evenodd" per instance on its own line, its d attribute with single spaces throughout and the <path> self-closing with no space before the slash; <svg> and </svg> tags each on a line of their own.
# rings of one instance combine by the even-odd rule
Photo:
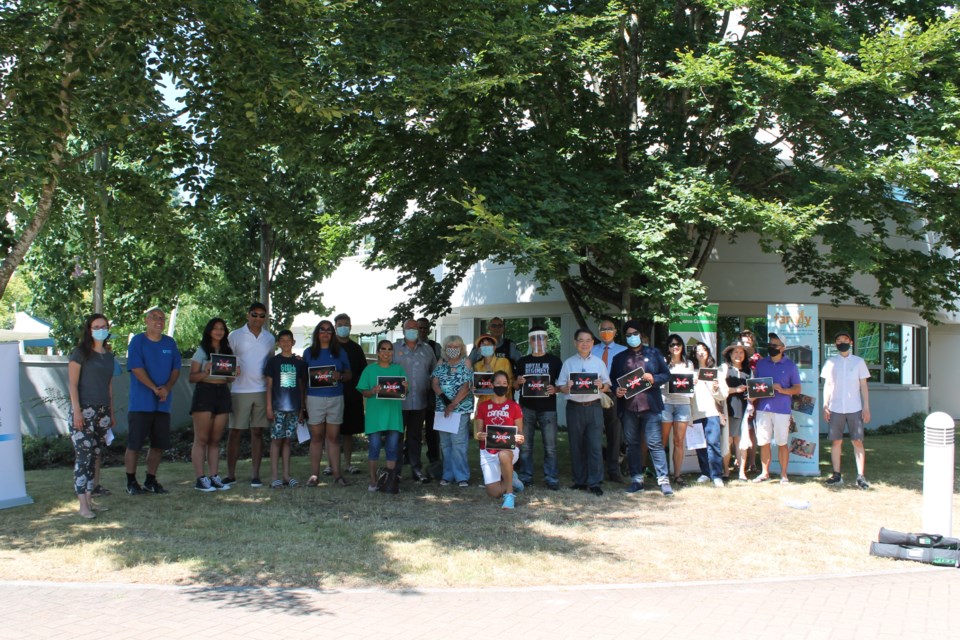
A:
<svg viewBox="0 0 960 640">
<path fill-rule="evenodd" d="M 869 489 L 870 483 L 864 477 L 863 425 L 870 422 L 870 391 L 867 388 L 870 371 L 863 358 L 853 355 L 853 339 L 847 331 L 838 332 L 833 343 L 839 353 L 830 356 L 820 372 L 823 378 L 823 417 L 830 425 L 830 460 L 833 463 L 833 475 L 827 484 L 837 487 L 843 484 L 840 456 L 843 428 L 846 427 L 857 463 L 857 486 Z"/>
</svg>

